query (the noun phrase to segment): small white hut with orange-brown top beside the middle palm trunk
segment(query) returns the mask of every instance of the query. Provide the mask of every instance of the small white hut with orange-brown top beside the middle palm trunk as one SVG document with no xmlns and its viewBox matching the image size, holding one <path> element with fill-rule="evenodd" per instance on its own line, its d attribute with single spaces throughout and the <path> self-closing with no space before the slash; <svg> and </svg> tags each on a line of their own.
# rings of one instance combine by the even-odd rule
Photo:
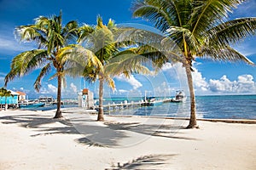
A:
<svg viewBox="0 0 256 170">
<path fill-rule="evenodd" d="M 84 88 L 79 92 L 79 107 L 91 109 L 94 107 L 93 93 L 88 88 Z"/>
</svg>

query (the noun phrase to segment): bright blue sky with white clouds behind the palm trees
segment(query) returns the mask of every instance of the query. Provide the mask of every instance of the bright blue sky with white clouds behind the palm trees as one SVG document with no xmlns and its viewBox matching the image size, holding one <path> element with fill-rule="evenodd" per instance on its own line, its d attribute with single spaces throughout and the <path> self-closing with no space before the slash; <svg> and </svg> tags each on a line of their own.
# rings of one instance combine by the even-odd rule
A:
<svg viewBox="0 0 256 170">
<path fill-rule="evenodd" d="M 78 20 L 80 24 L 96 24 L 96 16 L 102 15 L 105 22 L 109 18 L 117 24 L 134 23 L 151 26 L 143 20 L 132 19 L 131 0 L 97 0 L 97 1 L 57 1 L 57 0 L 0 0 L 0 87 L 3 79 L 9 72 L 10 61 L 16 54 L 25 50 L 35 48 L 32 43 L 20 43 L 13 34 L 15 26 L 28 25 L 39 15 L 50 16 L 59 14 L 62 10 L 63 23 L 69 20 Z M 256 17 L 256 0 L 247 3 L 234 10 L 232 19 L 252 16 Z M 241 54 L 245 54 L 256 63 L 256 36 L 247 37 L 244 41 L 233 46 Z M 211 60 L 196 59 L 195 72 L 195 94 L 256 94 L 256 67 L 243 63 L 216 63 Z M 56 94 L 56 80 L 44 78 L 40 93 L 33 89 L 33 82 L 38 71 L 17 78 L 9 82 L 8 88 L 26 92 L 29 98 L 39 95 Z M 149 95 L 174 95 L 180 88 L 186 88 L 186 80 L 180 65 L 165 65 L 162 71 L 154 77 L 133 75 L 130 79 L 116 77 L 116 91 L 106 86 L 105 97 L 113 96 L 143 96 L 147 91 Z M 97 93 L 98 84 L 85 82 L 85 87 Z M 77 93 L 84 88 L 81 78 L 67 78 L 67 87 L 63 89 L 64 98 L 76 98 Z"/>
</svg>

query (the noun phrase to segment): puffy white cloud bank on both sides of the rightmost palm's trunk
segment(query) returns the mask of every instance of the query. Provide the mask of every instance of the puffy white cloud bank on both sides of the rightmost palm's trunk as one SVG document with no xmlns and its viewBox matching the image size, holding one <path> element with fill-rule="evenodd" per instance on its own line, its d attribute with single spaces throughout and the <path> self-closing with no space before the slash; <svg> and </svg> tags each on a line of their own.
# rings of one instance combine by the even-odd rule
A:
<svg viewBox="0 0 256 170">
<path fill-rule="evenodd" d="M 194 63 L 195 64 L 195 63 Z M 199 63 L 200 64 L 200 63 Z M 181 83 L 181 88 L 186 89 L 187 76 L 181 64 L 169 64 L 165 65 L 165 71 L 169 69 L 175 69 L 177 72 L 177 78 Z M 195 65 L 198 65 L 196 63 Z M 168 69 L 167 69 L 168 68 Z M 192 72 L 194 88 L 196 94 L 256 94 L 256 82 L 253 81 L 252 75 L 241 75 L 238 76 L 236 80 L 230 81 L 230 79 L 224 75 L 220 79 L 210 79 L 207 81 L 200 71 L 194 68 Z M 157 89 L 161 90 L 161 89 Z M 170 89 L 171 90 L 171 89 Z M 189 93 L 188 91 L 185 93 Z"/>
</svg>

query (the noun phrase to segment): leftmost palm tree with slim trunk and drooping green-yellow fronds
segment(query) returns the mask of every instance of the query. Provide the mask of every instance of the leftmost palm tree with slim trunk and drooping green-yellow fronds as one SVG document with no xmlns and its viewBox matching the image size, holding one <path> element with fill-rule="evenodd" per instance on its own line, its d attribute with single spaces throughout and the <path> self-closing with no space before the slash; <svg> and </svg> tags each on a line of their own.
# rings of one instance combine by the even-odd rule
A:
<svg viewBox="0 0 256 170">
<path fill-rule="evenodd" d="M 54 68 L 57 77 L 57 111 L 54 118 L 61 117 L 61 81 L 64 78 L 65 61 L 61 60 L 59 51 L 77 37 L 78 24 L 72 20 L 62 26 L 62 15 L 51 17 L 40 16 L 33 25 L 19 26 L 15 33 L 21 41 L 36 42 L 38 49 L 32 49 L 15 56 L 11 63 L 11 71 L 5 77 L 5 86 L 15 77 L 22 77 L 32 70 L 42 68 L 34 88 L 39 91 L 41 80 Z"/>
</svg>

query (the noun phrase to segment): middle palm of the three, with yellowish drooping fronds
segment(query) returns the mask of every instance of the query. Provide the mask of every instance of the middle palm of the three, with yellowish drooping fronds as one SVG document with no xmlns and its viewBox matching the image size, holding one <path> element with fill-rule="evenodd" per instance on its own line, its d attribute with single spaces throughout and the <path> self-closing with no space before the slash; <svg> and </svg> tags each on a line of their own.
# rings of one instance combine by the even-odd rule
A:
<svg viewBox="0 0 256 170">
<path fill-rule="evenodd" d="M 105 26 L 102 18 L 97 17 L 96 26 L 84 25 L 79 28 L 79 45 L 71 45 L 63 48 L 62 58 L 67 57 L 67 66 L 65 73 L 73 77 L 84 77 L 90 82 L 99 81 L 99 111 L 97 121 L 104 121 L 103 116 L 103 86 L 108 82 L 108 86 L 115 88 L 114 76 L 125 74 L 129 77 L 132 72 L 148 73 L 148 69 L 141 65 L 144 51 L 137 48 L 129 48 L 130 40 L 119 41 L 117 37 L 121 34 L 123 28 L 115 26 L 113 20 L 108 21 Z M 72 55 L 73 54 L 73 55 Z M 131 61 L 133 61 L 131 63 Z M 122 67 L 117 67 L 120 63 L 126 63 Z"/>
</svg>

